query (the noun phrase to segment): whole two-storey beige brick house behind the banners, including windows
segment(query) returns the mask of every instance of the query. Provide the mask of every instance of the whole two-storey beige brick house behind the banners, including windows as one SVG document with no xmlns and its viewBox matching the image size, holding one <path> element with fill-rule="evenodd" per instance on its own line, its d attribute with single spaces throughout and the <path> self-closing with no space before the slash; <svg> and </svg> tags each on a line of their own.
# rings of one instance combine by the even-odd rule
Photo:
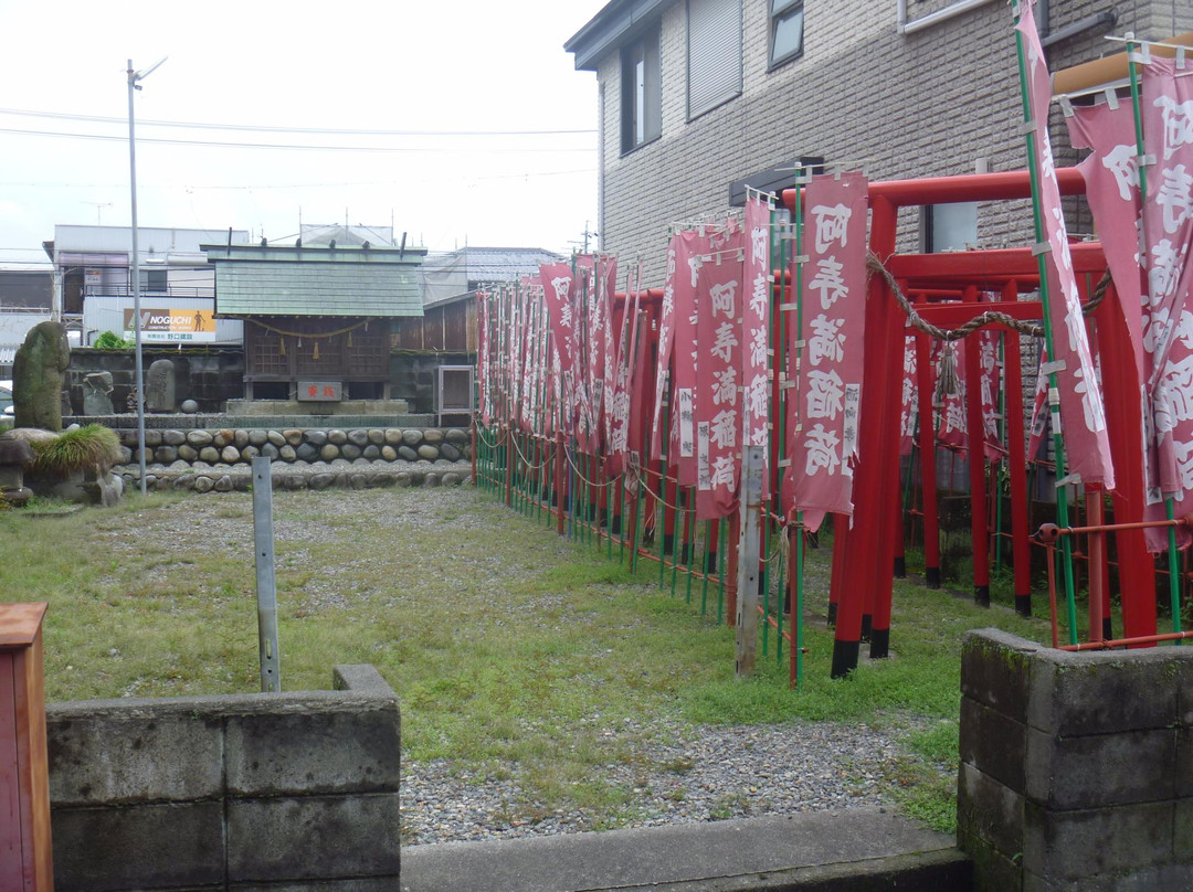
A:
<svg viewBox="0 0 1193 892">
<path fill-rule="evenodd" d="M 1193 29 L 1188 0 L 1036 14 L 1053 72 L 1121 50 L 1108 35 Z M 801 159 L 873 180 L 1022 168 L 1012 27 L 1005 0 L 612 0 L 564 45 L 599 82 L 602 250 L 641 254 L 661 284 L 669 223 L 741 204 L 744 182 L 790 186 Z M 929 248 L 1030 240 L 1014 207 L 905 213 Z"/>
</svg>

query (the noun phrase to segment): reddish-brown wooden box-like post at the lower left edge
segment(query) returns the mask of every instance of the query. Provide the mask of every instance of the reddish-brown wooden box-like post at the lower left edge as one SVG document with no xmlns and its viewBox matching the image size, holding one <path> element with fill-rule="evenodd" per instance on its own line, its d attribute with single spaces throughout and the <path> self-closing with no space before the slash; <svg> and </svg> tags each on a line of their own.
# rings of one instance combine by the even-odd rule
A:
<svg viewBox="0 0 1193 892">
<path fill-rule="evenodd" d="M 51 892 L 44 603 L 0 603 L 0 890 Z"/>
</svg>

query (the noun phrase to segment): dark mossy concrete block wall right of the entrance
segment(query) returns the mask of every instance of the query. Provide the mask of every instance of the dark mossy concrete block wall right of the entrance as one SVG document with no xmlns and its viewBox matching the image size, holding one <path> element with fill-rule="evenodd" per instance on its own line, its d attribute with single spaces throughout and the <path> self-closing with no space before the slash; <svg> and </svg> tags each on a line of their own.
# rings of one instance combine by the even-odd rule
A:
<svg viewBox="0 0 1193 892">
<path fill-rule="evenodd" d="M 1193 649 L 970 633 L 957 838 L 978 892 L 1193 888 Z"/>
</svg>

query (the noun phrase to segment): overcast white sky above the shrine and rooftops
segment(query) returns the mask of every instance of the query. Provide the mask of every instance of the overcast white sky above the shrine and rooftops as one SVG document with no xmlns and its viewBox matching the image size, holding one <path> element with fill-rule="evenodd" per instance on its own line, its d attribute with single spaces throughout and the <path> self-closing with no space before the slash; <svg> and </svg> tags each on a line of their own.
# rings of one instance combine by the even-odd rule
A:
<svg viewBox="0 0 1193 892">
<path fill-rule="evenodd" d="M 162 57 L 141 227 L 569 252 L 596 228 L 596 78 L 563 43 L 605 2 L 0 0 L 0 267 L 47 264 L 56 223 L 130 224 L 128 62 Z"/>
</svg>

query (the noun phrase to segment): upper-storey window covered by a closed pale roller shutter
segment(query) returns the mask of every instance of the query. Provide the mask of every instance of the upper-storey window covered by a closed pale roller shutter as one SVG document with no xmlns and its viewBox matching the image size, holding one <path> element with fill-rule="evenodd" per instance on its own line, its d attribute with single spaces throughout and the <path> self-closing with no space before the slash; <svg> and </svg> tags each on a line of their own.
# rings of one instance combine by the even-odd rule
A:
<svg viewBox="0 0 1193 892">
<path fill-rule="evenodd" d="M 687 0 L 687 117 L 741 92 L 741 0 Z"/>
</svg>

